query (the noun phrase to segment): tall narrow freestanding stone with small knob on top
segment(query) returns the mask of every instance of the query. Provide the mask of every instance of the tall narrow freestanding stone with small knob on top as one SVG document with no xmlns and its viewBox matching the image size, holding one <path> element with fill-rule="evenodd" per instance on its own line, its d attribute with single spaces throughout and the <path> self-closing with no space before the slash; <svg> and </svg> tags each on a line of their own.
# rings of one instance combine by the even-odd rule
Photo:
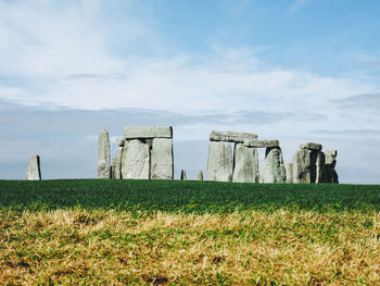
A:
<svg viewBox="0 0 380 286">
<path fill-rule="evenodd" d="M 98 140 L 98 178 L 111 177 L 110 135 L 103 129 Z"/>
</svg>

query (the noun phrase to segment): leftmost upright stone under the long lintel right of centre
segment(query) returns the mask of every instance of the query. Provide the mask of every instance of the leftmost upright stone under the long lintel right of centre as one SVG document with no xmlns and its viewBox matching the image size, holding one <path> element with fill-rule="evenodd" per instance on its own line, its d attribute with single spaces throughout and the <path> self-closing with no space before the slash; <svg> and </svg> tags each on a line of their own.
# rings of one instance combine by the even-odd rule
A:
<svg viewBox="0 0 380 286">
<path fill-rule="evenodd" d="M 232 149 L 229 142 L 211 141 L 207 159 L 207 181 L 232 181 Z"/>
</svg>

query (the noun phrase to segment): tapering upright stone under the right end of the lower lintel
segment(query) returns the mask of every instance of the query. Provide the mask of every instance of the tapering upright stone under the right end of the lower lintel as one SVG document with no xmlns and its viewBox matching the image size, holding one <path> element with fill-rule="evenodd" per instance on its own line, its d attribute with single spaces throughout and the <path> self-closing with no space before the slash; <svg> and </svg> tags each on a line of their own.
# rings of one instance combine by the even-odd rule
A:
<svg viewBox="0 0 380 286">
<path fill-rule="evenodd" d="M 274 147 L 266 149 L 263 171 L 264 183 L 287 182 L 287 172 L 283 166 L 282 152 L 280 148 Z"/>
</svg>

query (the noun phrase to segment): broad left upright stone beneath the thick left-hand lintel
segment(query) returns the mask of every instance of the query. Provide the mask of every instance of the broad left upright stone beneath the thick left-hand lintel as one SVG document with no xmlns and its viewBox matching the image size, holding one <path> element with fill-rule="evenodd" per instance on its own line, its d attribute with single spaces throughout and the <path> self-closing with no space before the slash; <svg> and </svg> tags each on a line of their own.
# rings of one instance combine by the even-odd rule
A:
<svg viewBox="0 0 380 286">
<path fill-rule="evenodd" d="M 122 177 L 149 179 L 149 146 L 141 140 L 125 142 L 122 154 Z"/>
</svg>

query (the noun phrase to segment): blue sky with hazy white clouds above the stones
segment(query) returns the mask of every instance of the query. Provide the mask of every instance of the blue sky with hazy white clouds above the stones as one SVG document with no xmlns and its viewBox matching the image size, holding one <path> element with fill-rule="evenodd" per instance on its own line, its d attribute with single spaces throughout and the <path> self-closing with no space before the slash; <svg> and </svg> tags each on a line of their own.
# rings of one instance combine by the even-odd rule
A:
<svg viewBox="0 0 380 286">
<path fill-rule="evenodd" d="M 0 1 L 0 179 L 97 176 L 124 126 L 174 128 L 175 178 L 211 130 L 337 149 L 340 183 L 380 184 L 380 1 Z M 264 150 L 259 151 L 264 160 Z"/>
</svg>

